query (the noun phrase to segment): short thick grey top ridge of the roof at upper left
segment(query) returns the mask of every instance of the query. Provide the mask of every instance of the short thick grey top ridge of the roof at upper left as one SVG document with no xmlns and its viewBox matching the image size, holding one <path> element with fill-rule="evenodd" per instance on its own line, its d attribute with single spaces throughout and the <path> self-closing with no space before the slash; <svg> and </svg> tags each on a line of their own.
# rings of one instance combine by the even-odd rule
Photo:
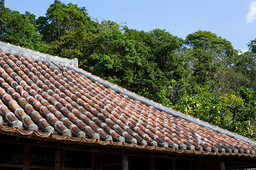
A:
<svg viewBox="0 0 256 170">
<path fill-rule="evenodd" d="M 77 58 L 70 60 L 70 59 L 63 58 L 63 57 L 44 54 L 42 52 L 36 52 L 36 51 L 30 50 L 30 49 L 27 49 L 24 47 L 11 45 L 10 43 L 6 43 L 6 42 L 0 41 L 0 50 L 9 51 L 13 55 L 21 55 L 22 57 L 30 57 L 33 60 L 40 60 L 42 62 L 54 61 L 63 66 L 74 65 L 75 67 L 78 67 L 78 59 Z"/>
</svg>

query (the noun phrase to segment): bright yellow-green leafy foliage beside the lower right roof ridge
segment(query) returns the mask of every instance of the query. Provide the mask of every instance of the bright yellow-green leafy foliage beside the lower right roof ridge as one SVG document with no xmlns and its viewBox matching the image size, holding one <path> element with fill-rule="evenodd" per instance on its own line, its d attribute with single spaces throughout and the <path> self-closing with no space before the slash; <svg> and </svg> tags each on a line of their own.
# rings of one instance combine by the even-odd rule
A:
<svg viewBox="0 0 256 170">
<path fill-rule="evenodd" d="M 220 128 L 243 136 L 256 137 L 256 108 L 255 104 L 252 104 L 255 103 L 255 99 L 252 103 L 247 103 L 239 93 L 220 96 L 209 93 L 207 87 L 198 90 L 196 95 L 184 95 L 174 108 Z M 243 97 L 252 99 L 250 90 L 241 89 L 240 93 Z"/>
</svg>

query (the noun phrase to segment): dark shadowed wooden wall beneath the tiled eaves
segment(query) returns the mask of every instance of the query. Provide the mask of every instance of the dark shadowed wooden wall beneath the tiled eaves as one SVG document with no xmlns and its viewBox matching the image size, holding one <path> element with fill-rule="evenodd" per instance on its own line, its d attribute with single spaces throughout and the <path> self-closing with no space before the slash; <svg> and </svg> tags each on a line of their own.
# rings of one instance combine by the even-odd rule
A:
<svg viewBox="0 0 256 170">
<path fill-rule="evenodd" d="M 223 162 L 219 157 L 158 154 L 154 151 L 144 152 L 143 149 L 133 151 L 125 150 L 124 147 L 97 147 L 77 143 L 47 142 L 0 135 L 0 169 L 219 170 L 219 162 Z"/>
</svg>

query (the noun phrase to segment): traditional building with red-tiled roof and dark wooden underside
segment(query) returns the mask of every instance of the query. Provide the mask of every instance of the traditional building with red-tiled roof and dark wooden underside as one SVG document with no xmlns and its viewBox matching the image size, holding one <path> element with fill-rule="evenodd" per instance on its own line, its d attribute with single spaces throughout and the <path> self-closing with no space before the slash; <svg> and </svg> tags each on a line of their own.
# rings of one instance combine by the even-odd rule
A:
<svg viewBox="0 0 256 170">
<path fill-rule="evenodd" d="M 0 42 L 0 169 L 248 169 L 256 142 Z"/>
</svg>

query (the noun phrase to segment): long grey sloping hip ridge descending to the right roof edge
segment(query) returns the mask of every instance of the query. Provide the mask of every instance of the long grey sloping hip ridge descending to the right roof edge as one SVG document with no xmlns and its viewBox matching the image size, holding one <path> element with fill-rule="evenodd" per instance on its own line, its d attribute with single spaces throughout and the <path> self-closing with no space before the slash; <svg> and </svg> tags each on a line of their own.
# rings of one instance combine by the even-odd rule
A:
<svg viewBox="0 0 256 170">
<path fill-rule="evenodd" d="M 228 135 L 230 137 L 236 137 L 239 140 L 242 140 L 244 142 L 247 142 L 247 143 L 250 143 L 250 144 L 256 146 L 256 142 L 253 141 L 253 140 L 250 140 L 247 137 L 243 137 L 241 135 L 238 135 L 235 132 L 230 132 L 229 130 L 225 130 L 223 128 L 220 128 L 220 127 L 218 127 L 218 125 L 211 125 L 208 122 L 205 122 L 205 121 L 200 120 L 198 118 L 193 118 L 191 115 L 186 115 L 184 113 L 181 113 L 180 111 L 175 111 L 172 108 L 168 108 L 166 106 L 161 105 L 161 103 L 156 103 L 155 101 L 149 100 L 148 98 L 144 98 L 143 96 L 139 96 L 135 93 L 132 93 L 131 91 L 127 91 L 127 89 L 122 89 L 122 87 L 117 86 L 116 84 L 113 85 L 109 81 L 101 79 L 100 77 L 97 77 L 97 76 L 95 76 L 95 75 L 93 75 L 89 72 L 86 72 L 83 69 L 80 69 L 78 67 L 73 67 L 71 65 L 67 66 L 67 69 L 72 69 L 73 71 L 84 75 L 85 77 L 87 77 L 88 79 L 91 79 L 92 81 L 97 81 L 100 84 L 102 84 L 103 86 L 106 86 L 107 88 L 113 89 L 114 91 L 117 91 L 120 94 L 124 94 L 124 95 L 128 96 L 129 98 L 132 98 L 132 99 L 135 99 L 139 102 L 142 102 L 142 103 L 146 104 L 147 106 L 153 106 L 154 108 L 156 108 L 159 111 L 163 111 L 163 112 L 169 113 L 171 115 L 174 115 L 176 117 L 183 118 L 184 120 L 187 120 L 188 122 L 196 123 L 197 125 L 201 125 L 205 128 L 209 128 L 210 130 L 214 130 L 215 132 L 221 132 L 221 133 L 223 133 L 225 135 Z"/>
</svg>

